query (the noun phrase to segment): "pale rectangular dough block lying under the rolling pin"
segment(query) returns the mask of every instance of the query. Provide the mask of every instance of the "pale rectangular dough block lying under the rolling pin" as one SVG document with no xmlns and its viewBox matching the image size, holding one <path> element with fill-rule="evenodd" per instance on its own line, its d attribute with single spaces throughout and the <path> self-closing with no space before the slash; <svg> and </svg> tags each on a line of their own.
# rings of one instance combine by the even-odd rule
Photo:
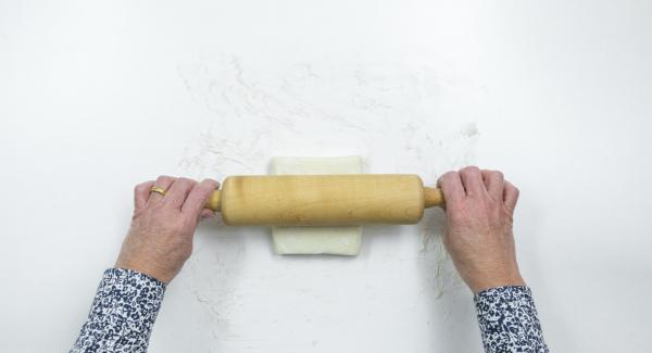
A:
<svg viewBox="0 0 652 353">
<path fill-rule="evenodd" d="M 362 174 L 360 156 L 272 159 L 272 174 Z M 274 250 L 280 255 L 358 255 L 362 226 L 353 227 L 273 227 Z"/>
</svg>

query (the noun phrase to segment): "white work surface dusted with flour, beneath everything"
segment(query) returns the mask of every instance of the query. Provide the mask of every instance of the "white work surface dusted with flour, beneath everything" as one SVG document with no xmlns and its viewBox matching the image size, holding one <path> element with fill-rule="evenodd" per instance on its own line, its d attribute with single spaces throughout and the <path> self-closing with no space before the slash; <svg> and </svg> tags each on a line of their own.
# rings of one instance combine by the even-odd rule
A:
<svg viewBox="0 0 652 353">
<path fill-rule="evenodd" d="M 652 2 L 0 1 L 0 351 L 63 352 L 160 174 L 500 168 L 554 352 L 650 352 Z M 358 257 L 197 232 L 151 352 L 481 352 L 442 212 Z"/>
</svg>

